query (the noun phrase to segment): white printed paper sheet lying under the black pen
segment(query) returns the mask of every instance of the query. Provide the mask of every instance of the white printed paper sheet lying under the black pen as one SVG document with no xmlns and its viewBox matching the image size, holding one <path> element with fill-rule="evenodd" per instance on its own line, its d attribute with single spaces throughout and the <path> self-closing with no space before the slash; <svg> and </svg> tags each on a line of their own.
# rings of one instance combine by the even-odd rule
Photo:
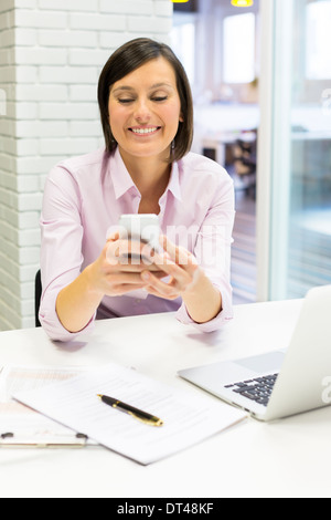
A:
<svg viewBox="0 0 331 520">
<path fill-rule="evenodd" d="M 105 405 L 97 394 L 156 415 L 164 426 L 141 424 Z M 18 392 L 13 397 L 143 465 L 193 446 L 246 417 L 211 397 L 178 391 L 114 364 L 40 391 Z"/>
</svg>

